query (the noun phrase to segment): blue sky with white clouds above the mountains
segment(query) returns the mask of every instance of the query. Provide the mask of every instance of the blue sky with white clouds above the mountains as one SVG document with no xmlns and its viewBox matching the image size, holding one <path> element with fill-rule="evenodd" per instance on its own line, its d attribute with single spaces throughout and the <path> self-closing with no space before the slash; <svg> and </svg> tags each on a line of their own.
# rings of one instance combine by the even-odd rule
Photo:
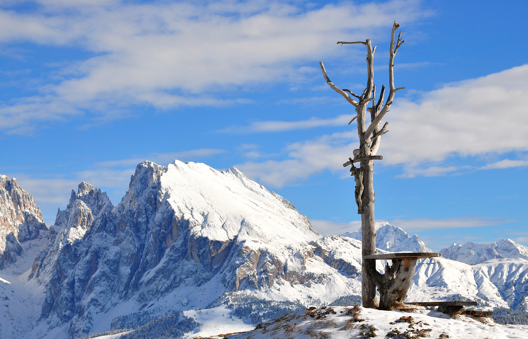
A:
<svg viewBox="0 0 528 339">
<path fill-rule="evenodd" d="M 232 166 L 322 234 L 357 229 L 353 107 L 370 38 L 387 84 L 375 213 L 430 248 L 528 245 L 528 3 L 99 1 L 0 3 L 0 173 L 53 223 L 87 181 L 117 205 L 137 163 Z M 362 48 L 363 47 L 363 48 Z"/>
</svg>

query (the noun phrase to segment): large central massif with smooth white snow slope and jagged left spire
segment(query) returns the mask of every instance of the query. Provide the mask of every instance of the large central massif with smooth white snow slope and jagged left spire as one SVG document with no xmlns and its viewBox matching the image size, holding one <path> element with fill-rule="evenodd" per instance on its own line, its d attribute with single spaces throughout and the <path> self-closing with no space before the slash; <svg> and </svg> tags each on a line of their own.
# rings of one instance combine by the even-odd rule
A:
<svg viewBox="0 0 528 339">
<path fill-rule="evenodd" d="M 72 191 L 30 279 L 46 284 L 41 318 L 69 322 L 70 336 L 89 333 L 93 319 L 121 303 L 137 311 L 162 297 L 205 307 L 224 291 L 327 301 L 353 294 L 357 265 L 327 265 L 336 244 L 319 238 L 289 201 L 235 168 L 146 161 L 116 207 L 85 182 Z M 354 240 L 337 238 L 357 251 Z M 314 254 L 321 246 L 324 258 Z"/>
</svg>

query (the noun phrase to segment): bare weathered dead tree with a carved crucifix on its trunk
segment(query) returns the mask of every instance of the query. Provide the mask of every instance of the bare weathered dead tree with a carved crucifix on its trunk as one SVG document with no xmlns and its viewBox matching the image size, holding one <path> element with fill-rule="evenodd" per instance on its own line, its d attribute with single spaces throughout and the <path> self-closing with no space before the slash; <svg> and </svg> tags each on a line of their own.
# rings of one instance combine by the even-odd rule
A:
<svg viewBox="0 0 528 339">
<path fill-rule="evenodd" d="M 394 87 L 394 56 L 398 52 L 401 44 L 405 40 L 401 40 L 401 32 L 398 35 L 398 39 L 394 40 L 394 34 L 399 28 L 399 24 L 394 21 L 392 26 L 391 33 L 391 46 L 390 46 L 390 57 L 389 57 L 389 93 L 383 104 L 385 96 L 385 86 L 381 87 L 380 95 L 378 102 L 376 103 L 376 93 L 374 86 L 374 52 L 376 47 L 372 48 L 370 39 L 365 41 L 355 41 L 355 42 L 344 42 L 339 41 L 337 44 L 363 44 L 366 46 L 366 67 L 367 67 L 367 81 L 365 90 L 361 95 L 355 94 L 349 89 L 341 89 L 334 85 L 332 81 L 326 75 L 325 67 L 323 62 L 319 62 L 321 70 L 323 71 L 323 76 L 337 93 L 341 94 L 348 103 L 352 104 L 355 107 L 356 116 L 348 123 L 349 125 L 356 120 L 357 118 L 357 135 L 360 139 L 359 149 L 354 150 L 354 158 L 349 158 L 349 161 L 343 164 L 344 167 L 352 165 L 351 172 L 356 181 L 356 188 L 354 191 L 356 204 L 357 204 L 357 213 L 361 214 L 361 234 L 362 234 L 362 296 L 363 296 L 363 307 L 377 307 L 378 301 L 376 300 L 376 285 L 382 294 L 381 299 L 386 298 L 383 291 L 381 290 L 381 285 L 385 284 L 386 279 L 390 280 L 389 276 L 396 276 L 394 271 L 400 271 L 396 265 L 390 270 L 388 270 L 386 279 L 380 279 L 375 273 L 375 259 L 366 259 L 365 256 L 374 255 L 376 253 L 376 240 L 375 240 L 375 229 L 374 229 L 374 187 L 373 187 L 373 171 L 372 171 L 372 160 L 381 160 L 383 157 L 381 155 L 376 155 L 380 147 L 380 137 L 381 135 L 388 132 L 386 130 L 386 122 L 383 127 L 380 129 L 380 122 L 385 116 L 392 105 L 394 95 L 396 91 L 403 89 L 405 87 Z M 372 102 L 372 103 L 371 103 Z M 371 104 L 371 107 L 367 107 Z M 370 113 L 370 125 L 366 124 L 366 115 L 367 112 Z M 354 166 L 355 162 L 360 163 L 360 167 L 356 168 Z M 367 262 L 369 264 L 367 264 Z M 374 264 L 374 268 L 372 265 Z M 416 259 L 414 260 L 416 265 Z M 412 266 L 412 263 L 407 266 Z M 410 267 L 409 267 L 410 268 Z M 407 268 L 407 270 L 409 270 Z M 373 271 L 374 270 L 374 271 Z M 412 267 L 414 272 L 414 267 Z M 379 273 L 378 273 L 379 274 Z M 394 279 L 392 279 L 394 280 Z M 376 284 L 377 283 L 377 284 Z M 386 284 L 385 284 L 386 285 Z M 386 287 L 386 286 L 385 286 Z M 404 291 L 407 292 L 407 289 Z M 398 296 L 400 298 L 401 296 Z M 389 298 L 391 299 L 391 298 Z M 389 302 L 389 301 L 388 301 Z"/>
</svg>

